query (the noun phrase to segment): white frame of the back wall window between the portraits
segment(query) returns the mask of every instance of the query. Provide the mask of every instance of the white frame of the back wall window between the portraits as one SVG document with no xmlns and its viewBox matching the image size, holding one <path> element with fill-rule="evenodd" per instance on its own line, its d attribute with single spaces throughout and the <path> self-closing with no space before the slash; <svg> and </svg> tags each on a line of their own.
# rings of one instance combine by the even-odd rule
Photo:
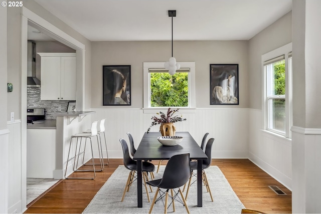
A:
<svg viewBox="0 0 321 214">
<path fill-rule="evenodd" d="M 189 70 L 189 106 L 179 107 L 182 113 L 195 113 L 195 62 L 178 62 L 181 64 L 181 69 Z M 168 109 L 169 107 L 151 107 L 150 106 L 150 75 L 149 70 L 164 69 L 165 62 L 144 62 L 143 63 L 143 110 L 144 113 L 156 113 L 159 110 Z M 177 108 L 177 107 L 173 107 Z"/>
</svg>

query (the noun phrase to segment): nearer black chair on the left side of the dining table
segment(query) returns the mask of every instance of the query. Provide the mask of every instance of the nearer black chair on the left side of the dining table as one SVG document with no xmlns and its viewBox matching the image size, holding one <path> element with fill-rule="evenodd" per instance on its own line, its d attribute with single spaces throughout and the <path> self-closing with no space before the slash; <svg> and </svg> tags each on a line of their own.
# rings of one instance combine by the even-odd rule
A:
<svg viewBox="0 0 321 214">
<path fill-rule="evenodd" d="M 137 171 L 137 161 L 131 159 L 131 157 L 129 156 L 128 145 L 127 145 L 126 140 L 121 138 L 121 139 L 119 139 L 119 141 L 122 146 L 124 166 L 130 170 L 130 172 L 128 174 L 127 182 L 125 185 L 124 193 L 121 198 L 121 201 L 123 201 L 126 191 L 129 191 L 129 186 L 131 185 L 131 183 L 134 180 L 136 180 L 135 179 L 136 176 L 134 175 L 134 173 Z M 154 170 L 155 170 L 155 166 L 154 166 L 154 164 L 152 164 L 150 162 L 145 162 L 145 164 L 142 165 L 142 177 L 144 180 L 144 185 L 145 185 L 145 189 L 146 189 L 146 193 L 147 193 L 148 202 L 150 202 L 150 198 L 149 198 L 148 189 L 147 189 L 147 185 L 146 185 L 146 180 L 148 181 L 146 172 L 153 172 Z"/>
</svg>

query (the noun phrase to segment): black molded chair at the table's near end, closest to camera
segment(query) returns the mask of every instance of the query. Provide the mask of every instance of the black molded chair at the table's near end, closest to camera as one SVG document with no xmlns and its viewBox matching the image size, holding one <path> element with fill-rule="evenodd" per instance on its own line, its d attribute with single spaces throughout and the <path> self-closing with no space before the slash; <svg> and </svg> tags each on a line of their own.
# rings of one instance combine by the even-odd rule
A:
<svg viewBox="0 0 321 214">
<path fill-rule="evenodd" d="M 185 208 L 187 210 L 187 213 L 190 213 L 189 207 L 187 206 L 187 203 L 185 201 L 184 195 L 181 190 L 181 186 L 183 186 L 191 177 L 191 165 L 190 165 L 190 154 L 178 154 L 174 155 L 170 158 L 168 161 L 163 178 L 151 180 L 148 181 L 147 184 L 151 186 L 157 187 L 157 191 L 155 193 L 155 196 L 153 198 L 153 201 L 151 203 L 149 213 L 151 213 L 152 208 L 154 206 L 154 203 L 158 200 L 163 200 L 164 194 L 165 194 L 165 210 L 164 213 L 167 213 L 168 209 L 168 197 L 169 197 L 169 190 L 171 189 L 171 198 L 173 203 L 173 211 L 175 211 L 175 202 L 174 200 L 177 200 L 185 205 Z M 161 190 L 166 189 L 165 191 Z M 179 188 L 178 192 L 175 192 L 175 195 L 173 194 L 173 189 Z M 157 194 L 159 193 L 159 197 L 157 198 Z M 178 200 L 176 197 L 179 197 L 179 193 L 181 193 L 182 200 Z M 171 205 L 171 204 L 170 204 Z"/>
</svg>

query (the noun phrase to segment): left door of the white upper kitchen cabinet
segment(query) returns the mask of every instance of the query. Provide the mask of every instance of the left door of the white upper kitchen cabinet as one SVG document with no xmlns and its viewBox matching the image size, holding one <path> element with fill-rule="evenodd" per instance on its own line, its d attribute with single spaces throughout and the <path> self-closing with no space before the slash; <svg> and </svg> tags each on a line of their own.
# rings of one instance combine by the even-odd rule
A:
<svg viewBox="0 0 321 214">
<path fill-rule="evenodd" d="M 61 57 L 41 57 L 41 99 L 60 100 Z"/>
</svg>

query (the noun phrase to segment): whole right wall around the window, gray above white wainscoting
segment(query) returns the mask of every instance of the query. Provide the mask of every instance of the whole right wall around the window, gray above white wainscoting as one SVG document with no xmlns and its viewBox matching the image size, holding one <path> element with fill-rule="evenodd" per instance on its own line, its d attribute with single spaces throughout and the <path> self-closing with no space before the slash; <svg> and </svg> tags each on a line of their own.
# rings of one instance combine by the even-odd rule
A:
<svg viewBox="0 0 321 214">
<path fill-rule="evenodd" d="M 292 40 L 292 12 L 249 40 L 249 159 L 291 189 L 291 141 L 263 129 L 262 74 L 263 54 Z"/>
</svg>

